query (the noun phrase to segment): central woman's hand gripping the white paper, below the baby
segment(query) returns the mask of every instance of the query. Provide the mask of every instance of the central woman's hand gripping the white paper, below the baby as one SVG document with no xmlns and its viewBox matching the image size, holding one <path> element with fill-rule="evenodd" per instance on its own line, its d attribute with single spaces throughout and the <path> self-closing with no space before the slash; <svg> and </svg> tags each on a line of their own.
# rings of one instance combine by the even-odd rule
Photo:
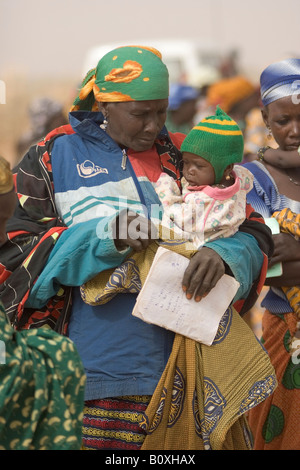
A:
<svg viewBox="0 0 300 470">
<path fill-rule="evenodd" d="M 182 288 L 188 299 L 199 302 L 225 274 L 222 258 L 212 249 L 201 248 L 190 260 L 184 273 Z"/>
</svg>

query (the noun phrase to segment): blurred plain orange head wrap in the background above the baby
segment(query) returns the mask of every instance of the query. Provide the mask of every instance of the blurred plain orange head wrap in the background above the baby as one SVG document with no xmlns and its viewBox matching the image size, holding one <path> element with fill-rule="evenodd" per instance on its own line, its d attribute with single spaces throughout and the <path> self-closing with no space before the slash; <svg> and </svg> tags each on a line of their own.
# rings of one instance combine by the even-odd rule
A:
<svg viewBox="0 0 300 470">
<path fill-rule="evenodd" d="M 225 78 L 209 87 L 207 100 L 210 106 L 219 104 L 228 113 L 235 104 L 248 98 L 255 91 L 254 85 L 242 76 Z"/>
</svg>

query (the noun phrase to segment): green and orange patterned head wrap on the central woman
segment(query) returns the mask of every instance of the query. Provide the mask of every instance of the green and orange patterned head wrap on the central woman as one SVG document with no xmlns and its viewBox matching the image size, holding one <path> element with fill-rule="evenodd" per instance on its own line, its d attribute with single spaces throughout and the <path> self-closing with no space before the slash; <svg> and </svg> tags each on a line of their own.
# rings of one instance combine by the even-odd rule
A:
<svg viewBox="0 0 300 470">
<path fill-rule="evenodd" d="M 145 46 L 124 46 L 108 52 L 88 72 L 72 110 L 97 110 L 96 102 L 166 99 L 169 73 L 161 53 Z M 96 102 L 95 102 L 96 101 Z"/>
</svg>

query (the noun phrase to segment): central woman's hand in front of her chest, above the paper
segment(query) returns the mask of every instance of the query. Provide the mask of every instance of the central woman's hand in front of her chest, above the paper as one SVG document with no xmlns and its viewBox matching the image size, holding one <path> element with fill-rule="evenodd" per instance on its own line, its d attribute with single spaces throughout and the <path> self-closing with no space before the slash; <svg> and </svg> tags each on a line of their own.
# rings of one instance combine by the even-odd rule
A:
<svg viewBox="0 0 300 470">
<path fill-rule="evenodd" d="M 117 250 L 130 247 L 135 251 L 143 251 L 157 238 L 156 227 L 146 217 L 127 210 L 118 215 L 115 226 Z"/>
</svg>

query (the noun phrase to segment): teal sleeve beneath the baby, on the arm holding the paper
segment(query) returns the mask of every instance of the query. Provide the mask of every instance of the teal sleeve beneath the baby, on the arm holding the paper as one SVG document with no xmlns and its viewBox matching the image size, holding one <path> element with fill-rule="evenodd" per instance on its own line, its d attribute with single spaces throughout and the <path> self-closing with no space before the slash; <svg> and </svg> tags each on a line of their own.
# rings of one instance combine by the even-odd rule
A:
<svg viewBox="0 0 300 470">
<path fill-rule="evenodd" d="M 246 298 L 263 265 L 263 253 L 256 239 L 248 233 L 237 232 L 230 238 L 220 238 L 205 246 L 221 256 L 240 283 L 233 303 Z"/>
</svg>

